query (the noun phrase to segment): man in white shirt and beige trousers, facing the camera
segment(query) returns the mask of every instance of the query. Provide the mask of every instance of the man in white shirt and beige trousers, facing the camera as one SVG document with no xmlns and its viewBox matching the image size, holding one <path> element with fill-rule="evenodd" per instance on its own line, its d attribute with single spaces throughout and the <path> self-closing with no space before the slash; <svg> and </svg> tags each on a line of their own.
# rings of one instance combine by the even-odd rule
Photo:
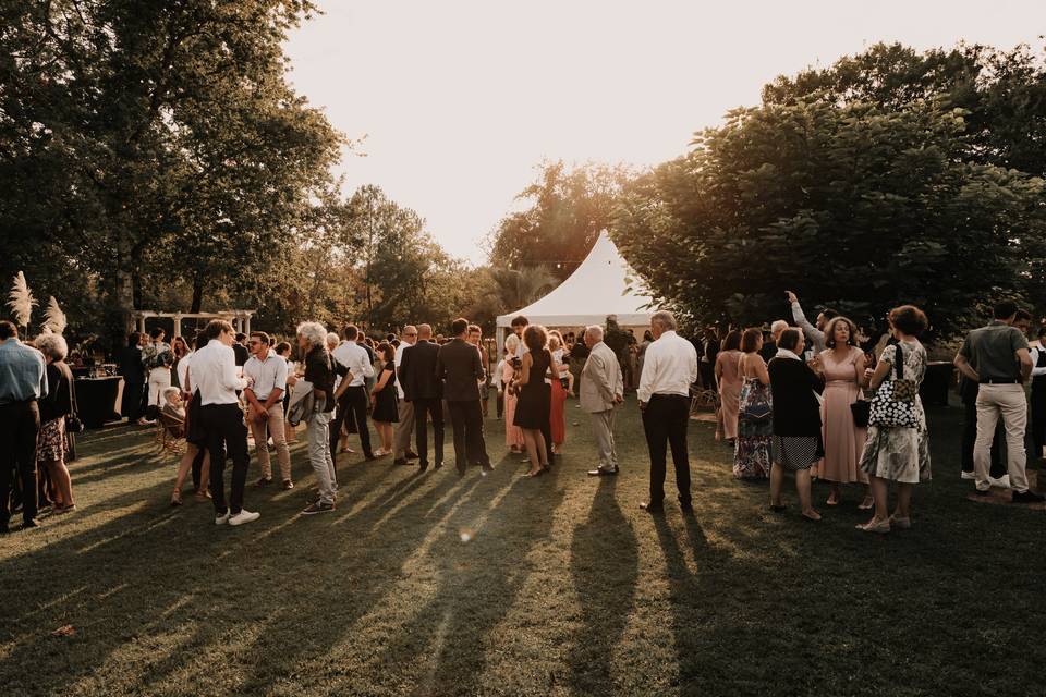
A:
<svg viewBox="0 0 1046 697">
<path fill-rule="evenodd" d="M 269 335 L 264 331 L 251 332 L 247 348 L 251 358 L 243 366 L 243 375 L 251 387 L 243 391 L 250 409 L 247 420 L 254 433 L 254 452 L 262 465 L 262 477 L 255 482 L 262 487 L 272 481 L 272 464 L 269 460 L 269 436 L 276 444 L 276 458 L 280 463 L 283 490 L 294 488 L 291 480 L 291 451 L 283 431 L 283 393 L 287 392 L 287 360 L 269 347 Z"/>
</svg>

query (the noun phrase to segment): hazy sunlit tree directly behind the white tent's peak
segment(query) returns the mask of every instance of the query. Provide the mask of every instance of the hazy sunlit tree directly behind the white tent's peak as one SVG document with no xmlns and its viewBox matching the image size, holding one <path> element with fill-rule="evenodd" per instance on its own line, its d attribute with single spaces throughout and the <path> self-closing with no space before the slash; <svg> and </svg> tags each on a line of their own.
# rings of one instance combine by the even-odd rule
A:
<svg viewBox="0 0 1046 697">
<path fill-rule="evenodd" d="M 544 266 L 564 280 L 574 272 L 601 230 L 630 171 L 624 167 L 587 163 L 568 169 L 546 162 L 537 180 L 516 196 L 525 210 L 503 218 L 490 240 L 490 262 L 519 269 Z"/>
</svg>

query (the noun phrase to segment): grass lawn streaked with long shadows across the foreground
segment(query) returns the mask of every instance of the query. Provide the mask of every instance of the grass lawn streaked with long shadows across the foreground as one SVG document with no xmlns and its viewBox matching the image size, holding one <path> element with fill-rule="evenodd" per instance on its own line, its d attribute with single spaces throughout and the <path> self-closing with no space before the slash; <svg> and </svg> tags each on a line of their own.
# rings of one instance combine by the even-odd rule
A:
<svg viewBox="0 0 1046 697">
<path fill-rule="evenodd" d="M 342 455 L 338 510 L 302 518 L 299 445 L 299 488 L 248 488 L 262 519 L 242 528 L 168 506 L 174 467 L 151 432 L 90 433 L 78 512 L 0 538 L 0 694 L 1043 694 L 1043 512 L 964 500 L 958 417 L 932 413 L 936 480 L 913 529 L 886 537 L 854 530 L 858 490 L 820 524 L 792 490 L 768 514 L 766 485 L 734 481 L 696 421 L 696 515 L 669 466 L 650 518 L 634 402 L 617 479 L 584 475 L 594 447 L 570 402 L 551 477 L 500 454 L 463 480 Z M 488 421 L 491 453 L 501 433 Z"/>
</svg>

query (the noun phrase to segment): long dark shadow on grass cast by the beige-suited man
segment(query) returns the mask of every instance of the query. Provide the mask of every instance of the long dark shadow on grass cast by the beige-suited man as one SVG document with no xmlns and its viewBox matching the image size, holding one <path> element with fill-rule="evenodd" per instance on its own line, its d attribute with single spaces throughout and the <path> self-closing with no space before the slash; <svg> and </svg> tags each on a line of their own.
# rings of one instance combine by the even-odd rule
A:
<svg viewBox="0 0 1046 697">
<path fill-rule="evenodd" d="M 638 549 L 615 497 L 616 477 L 600 477 L 588 519 L 574 530 L 570 570 L 584 625 L 570 655 L 571 683 L 582 693 L 612 690 L 611 658 L 632 609 Z"/>
</svg>

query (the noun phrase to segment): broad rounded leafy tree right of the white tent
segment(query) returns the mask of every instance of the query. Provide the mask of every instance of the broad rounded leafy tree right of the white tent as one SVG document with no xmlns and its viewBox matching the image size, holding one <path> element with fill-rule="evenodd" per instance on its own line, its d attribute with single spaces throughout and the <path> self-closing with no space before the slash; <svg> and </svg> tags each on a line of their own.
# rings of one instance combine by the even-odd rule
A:
<svg viewBox="0 0 1046 697">
<path fill-rule="evenodd" d="M 659 298 L 742 323 L 787 289 L 864 322 L 912 302 L 947 334 L 1021 285 L 1042 179 L 966 161 L 961 110 L 816 97 L 732 111 L 629 187 L 613 237 Z"/>
</svg>

